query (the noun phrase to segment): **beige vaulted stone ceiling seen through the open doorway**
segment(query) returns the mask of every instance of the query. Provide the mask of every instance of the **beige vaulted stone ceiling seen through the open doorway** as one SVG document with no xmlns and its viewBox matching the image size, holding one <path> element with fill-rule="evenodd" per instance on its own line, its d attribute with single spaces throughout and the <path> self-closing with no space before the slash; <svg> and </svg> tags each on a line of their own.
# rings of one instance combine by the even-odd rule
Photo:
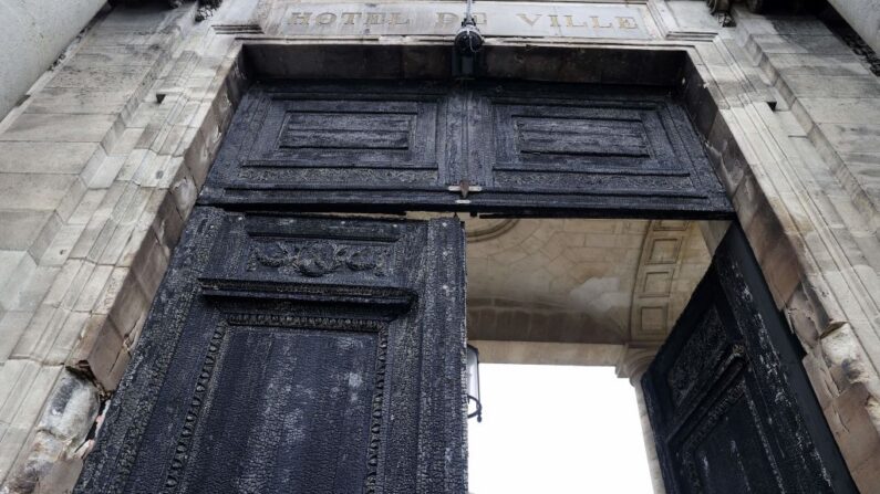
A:
<svg viewBox="0 0 880 494">
<path fill-rule="evenodd" d="M 696 222 L 465 224 L 468 336 L 477 340 L 662 341 L 710 262 Z"/>
</svg>

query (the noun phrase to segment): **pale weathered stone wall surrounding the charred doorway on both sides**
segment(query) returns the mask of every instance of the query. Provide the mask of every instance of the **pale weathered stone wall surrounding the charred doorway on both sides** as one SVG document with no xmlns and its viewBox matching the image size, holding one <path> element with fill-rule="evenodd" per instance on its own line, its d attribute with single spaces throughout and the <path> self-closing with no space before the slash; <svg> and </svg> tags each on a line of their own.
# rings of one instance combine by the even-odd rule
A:
<svg viewBox="0 0 880 494">
<path fill-rule="evenodd" d="M 242 45 L 259 41 L 280 53 L 315 43 L 392 51 L 448 43 L 261 39 L 248 22 L 268 3 L 228 0 L 201 23 L 194 4 L 117 8 L 0 124 L 0 479 L 8 492 L 63 491 L 75 479 L 89 448 L 89 397 L 115 388 L 246 86 Z M 807 351 L 856 482 L 880 491 L 880 81 L 811 18 L 736 9 L 736 27 L 718 28 L 703 2 L 651 0 L 648 8 L 661 34 L 622 44 L 686 51 L 682 92 L 692 118 Z M 59 413 L 72 428 L 51 424 Z"/>
</svg>

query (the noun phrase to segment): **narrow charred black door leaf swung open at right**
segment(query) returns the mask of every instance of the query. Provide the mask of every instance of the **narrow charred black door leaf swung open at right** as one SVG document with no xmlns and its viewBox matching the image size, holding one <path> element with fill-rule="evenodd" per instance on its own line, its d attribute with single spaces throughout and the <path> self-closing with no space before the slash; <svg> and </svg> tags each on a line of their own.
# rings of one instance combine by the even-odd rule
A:
<svg viewBox="0 0 880 494">
<path fill-rule="evenodd" d="M 856 493 L 737 225 L 642 378 L 667 494 Z"/>
</svg>

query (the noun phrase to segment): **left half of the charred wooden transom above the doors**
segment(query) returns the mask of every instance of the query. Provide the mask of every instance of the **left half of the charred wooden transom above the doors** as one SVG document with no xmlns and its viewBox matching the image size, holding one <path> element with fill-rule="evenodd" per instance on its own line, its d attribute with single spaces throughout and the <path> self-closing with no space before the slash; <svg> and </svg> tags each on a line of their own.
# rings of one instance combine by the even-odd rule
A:
<svg viewBox="0 0 880 494">
<path fill-rule="evenodd" d="M 460 98 L 435 84 L 259 83 L 237 112 L 203 202 L 449 199 Z"/>
</svg>

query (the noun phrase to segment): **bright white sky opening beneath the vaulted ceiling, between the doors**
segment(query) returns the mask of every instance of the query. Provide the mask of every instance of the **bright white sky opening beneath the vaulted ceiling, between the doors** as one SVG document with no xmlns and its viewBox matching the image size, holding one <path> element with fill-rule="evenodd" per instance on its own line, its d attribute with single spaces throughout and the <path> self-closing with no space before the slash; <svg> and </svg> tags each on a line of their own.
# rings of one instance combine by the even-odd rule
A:
<svg viewBox="0 0 880 494">
<path fill-rule="evenodd" d="M 474 494 L 651 494 L 635 391 L 609 367 L 480 364 Z"/>
</svg>

